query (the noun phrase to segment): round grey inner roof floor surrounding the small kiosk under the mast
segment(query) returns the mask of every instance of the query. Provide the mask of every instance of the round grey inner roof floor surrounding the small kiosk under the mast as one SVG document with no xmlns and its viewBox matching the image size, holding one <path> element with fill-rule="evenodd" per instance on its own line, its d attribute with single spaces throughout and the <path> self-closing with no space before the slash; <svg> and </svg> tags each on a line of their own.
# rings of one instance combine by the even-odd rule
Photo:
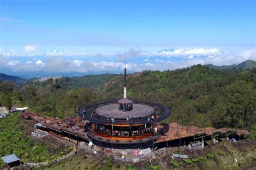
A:
<svg viewBox="0 0 256 170">
<path fill-rule="evenodd" d="M 100 117 L 114 119 L 126 119 L 129 118 L 145 118 L 154 114 L 154 108 L 144 104 L 132 104 L 133 109 L 131 111 L 122 111 L 118 109 L 118 104 L 107 104 L 99 107 L 95 110 L 96 114 Z"/>
</svg>

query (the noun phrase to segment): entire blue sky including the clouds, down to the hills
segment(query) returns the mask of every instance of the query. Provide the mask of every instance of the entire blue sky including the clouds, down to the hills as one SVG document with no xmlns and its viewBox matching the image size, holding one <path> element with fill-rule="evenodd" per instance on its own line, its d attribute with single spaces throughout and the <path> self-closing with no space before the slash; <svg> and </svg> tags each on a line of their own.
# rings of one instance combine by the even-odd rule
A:
<svg viewBox="0 0 256 170">
<path fill-rule="evenodd" d="M 166 70 L 256 60 L 256 1 L 0 0 L 0 72 Z"/>
</svg>

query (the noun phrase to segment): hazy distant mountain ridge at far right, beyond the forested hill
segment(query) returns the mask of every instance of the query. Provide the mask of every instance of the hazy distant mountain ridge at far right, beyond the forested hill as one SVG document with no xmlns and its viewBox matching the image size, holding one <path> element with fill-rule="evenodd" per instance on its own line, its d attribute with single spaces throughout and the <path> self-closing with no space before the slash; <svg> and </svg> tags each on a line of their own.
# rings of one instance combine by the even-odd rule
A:
<svg viewBox="0 0 256 170">
<path fill-rule="evenodd" d="M 218 69 L 218 70 L 226 70 L 226 69 L 252 69 L 256 68 L 256 61 L 253 60 L 246 60 L 244 62 L 239 63 L 238 65 L 230 65 L 230 66 L 214 66 L 212 64 L 206 65 L 210 68 L 213 69 Z"/>
</svg>

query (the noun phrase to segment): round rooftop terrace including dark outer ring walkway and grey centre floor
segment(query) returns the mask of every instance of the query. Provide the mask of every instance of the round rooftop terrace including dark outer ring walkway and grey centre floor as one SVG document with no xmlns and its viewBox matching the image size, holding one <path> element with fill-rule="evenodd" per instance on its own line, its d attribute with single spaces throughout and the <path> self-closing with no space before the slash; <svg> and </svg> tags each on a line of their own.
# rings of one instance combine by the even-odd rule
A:
<svg viewBox="0 0 256 170">
<path fill-rule="evenodd" d="M 157 112 L 155 109 L 157 109 Z M 133 112 L 133 114 L 131 114 L 133 115 L 132 117 L 129 116 L 131 112 Z M 155 116 L 154 119 L 150 120 L 151 123 L 163 121 L 165 118 L 170 116 L 171 110 L 168 107 L 165 107 L 164 105 L 161 105 L 159 103 L 133 101 L 133 109 L 131 111 L 119 111 L 118 101 L 105 101 L 85 105 L 84 107 L 79 109 L 78 114 L 84 120 L 94 123 L 131 125 L 149 123 L 147 116 L 152 114 L 154 114 Z M 119 114 L 119 116 L 116 116 L 117 114 Z M 107 116 L 109 116 L 109 119 L 107 119 Z M 112 118 L 111 116 L 114 116 L 114 122 L 110 121 L 110 119 Z M 129 116 L 129 121 L 127 121 L 126 119 L 127 116 Z"/>
</svg>

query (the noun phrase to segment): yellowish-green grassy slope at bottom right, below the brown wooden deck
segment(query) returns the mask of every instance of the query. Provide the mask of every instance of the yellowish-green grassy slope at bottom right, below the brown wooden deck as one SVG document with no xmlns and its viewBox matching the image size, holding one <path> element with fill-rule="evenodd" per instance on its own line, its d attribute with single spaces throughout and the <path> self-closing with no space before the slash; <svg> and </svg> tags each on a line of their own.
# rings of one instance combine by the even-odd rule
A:
<svg viewBox="0 0 256 170">
<path fill-rule="evenodd" d="M 190 159 L 170 159 L 169 166 L 175 169 L 247 169 L 256 166 L 256 141 L 240 140 L 238 143 L 226 141 L 211 146 L 205 146 L 204 150 L 192 152 L 182 149 L 183 154 L 187 154 Z M 176 153 L 173 150 L 173 153 Z M 235 161 L 235 158 L 238 161 Z"/>
</svg>

